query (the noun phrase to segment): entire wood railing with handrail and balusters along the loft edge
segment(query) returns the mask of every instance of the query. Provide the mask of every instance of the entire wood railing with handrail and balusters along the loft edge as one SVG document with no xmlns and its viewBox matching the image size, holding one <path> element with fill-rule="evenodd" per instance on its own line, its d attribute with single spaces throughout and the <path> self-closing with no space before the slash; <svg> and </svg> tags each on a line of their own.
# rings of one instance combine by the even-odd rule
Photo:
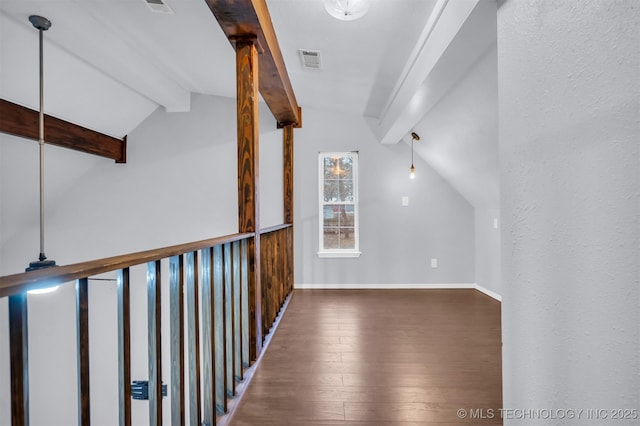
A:
<svg viewBox="0 0 640 426">
<path fill-rule="evenodd" d="M 293 289 L 293 228 L 260 231 L 263 336 Z M 11 424 L 29 424 L 27 292 L 72 283 L 76 289 L 78 424 L 91 423 L 89 291 L 92 277 L 116 274 L 118 317 L 118 410 L 120 426 L 131 425 L 131 268 L 146 265 L 149 424 L 163 424 L 163 381 L 172 425 L 216 424 L 236 396 L 237 384 L 255 360 L 249 342 L 256 336 L 255 281 L 247 254 L 255 233 L 233 234 L 161 249 L 0 277 L 0 298 L 8 298 L 11 364 Z M 168 284 L 163 271 L 168 266 Z M 162 371 L 161 293 L 169 292 L 170 372 Z M 139 308 L 139 307 L 136 307 Z M 254 314 L 255 315 L 255 314 Z M 255 316 L 254 316 L 255 318 Z M 253 324 L 253 325 L 252 325 Z M 186 331 L 186 333 L 185 333 Z M 186 334 L 186 335 L 185 335 Z M 0 342 L 0 344 L 6 344 Z M 186 354 L 186 355 L 185 355 Z M 166 356 L 166 354 L 165 354 Z M 114 372 L 115 373 L 115 372 Z M 188 407 L 188 412 L 187 408 Z M 37 407 L 34 407 L 37 409 Z M 188 419 L 188 420 L 187 420 Z"/>
</svg>

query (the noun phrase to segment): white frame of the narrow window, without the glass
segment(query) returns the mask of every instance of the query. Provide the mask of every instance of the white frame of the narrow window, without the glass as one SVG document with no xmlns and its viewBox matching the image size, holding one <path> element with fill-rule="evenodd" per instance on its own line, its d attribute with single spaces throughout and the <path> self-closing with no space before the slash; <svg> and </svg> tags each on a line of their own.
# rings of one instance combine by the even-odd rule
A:
<svg viewBox="0 0 640 426">
<path fill-rule="evenodd" d="M 353 159 L 353 202 L 324 201 L 324 160 L 325 158 L 345 157 Z M 318 257 L 360 257 L 360 208 L 358 194 L 358 152 L 320 152 L 318 153 Z M 353 232 L 354 248 L 349 249 L 325 249 L 324 248 L 324 206 L 325 204 L 353 205 Z"/>
</svg>

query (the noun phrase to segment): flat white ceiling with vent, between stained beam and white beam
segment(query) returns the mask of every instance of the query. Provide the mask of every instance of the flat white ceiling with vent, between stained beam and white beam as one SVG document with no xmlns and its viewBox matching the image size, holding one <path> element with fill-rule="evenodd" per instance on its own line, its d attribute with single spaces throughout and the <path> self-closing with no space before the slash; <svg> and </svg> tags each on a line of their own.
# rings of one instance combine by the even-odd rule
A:
<svg viewBox="0 0 640 426">
<path fill-rule="evenodd" d="M 435 0 L 373 0 L 339 21 L 322 0 L 267 0 L 301 105 L 379 117 Z M 319 50 L 322 69 L 304 69 L 299 49 Z"/>
</svg>

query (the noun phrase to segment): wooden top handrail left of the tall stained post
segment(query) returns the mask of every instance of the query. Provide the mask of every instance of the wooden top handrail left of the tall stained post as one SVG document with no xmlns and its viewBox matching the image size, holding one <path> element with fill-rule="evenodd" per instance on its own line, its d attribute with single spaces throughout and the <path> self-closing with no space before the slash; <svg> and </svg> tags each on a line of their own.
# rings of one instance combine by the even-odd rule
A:
<svg viewBox="0 0 640 426">
<path fill-rule="evenodd" d="M 7 275 L 0 277 L 0 297 L 11 296 L 27 290 L 50 287 L 79 278 L 86 278 L 122 268 L 129 268 L 131 266 L 217 246 L 219 244 L 250 238 L 254 235 L 254 232 L 231 234 L 208 240 L 194 241 L 191 243 L 178 244 L 175 246 L 146 250 L 137 253 L 90 260 L 88 262 L 75 263 L 73 265 L 57 266 L 53 268 L 23 272 L 20 274 Z"/>
</svg>

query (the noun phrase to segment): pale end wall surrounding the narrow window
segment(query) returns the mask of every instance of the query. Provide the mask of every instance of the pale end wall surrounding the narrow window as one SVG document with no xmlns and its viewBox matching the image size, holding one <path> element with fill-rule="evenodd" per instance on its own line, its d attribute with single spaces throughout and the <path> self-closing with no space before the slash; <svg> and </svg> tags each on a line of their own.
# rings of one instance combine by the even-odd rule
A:
<svg viewBox="0 0 640 426">
<path fill-rule="evenodd" d="M 303 120 L 295 130 L 297 285 L 474 282 L 473 207 L 458 192 L 418 158 L 410 180 L 410 148 L 381 145 L 362 117 L 305 108 Z M 317 256 L 322 151 L 359 152 L 359 258 Z"/>
</svg>

